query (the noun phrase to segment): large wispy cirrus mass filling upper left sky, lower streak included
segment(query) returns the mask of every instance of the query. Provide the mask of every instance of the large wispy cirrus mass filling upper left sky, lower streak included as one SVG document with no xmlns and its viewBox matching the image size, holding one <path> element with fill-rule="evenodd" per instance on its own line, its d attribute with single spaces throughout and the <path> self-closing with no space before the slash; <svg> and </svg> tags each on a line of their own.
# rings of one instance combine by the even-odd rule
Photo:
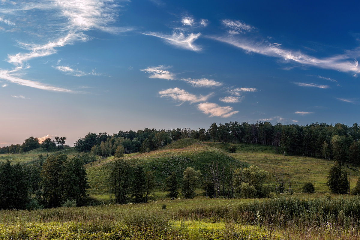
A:
<svg viewBox="0 0 360 240">
<path fill-rule="evenodd" d="M 7 71 L 6 74 L 2 71 L 2 78 L 20 85 L 49 91 L 73 92 L 67 89 L 43 85 L 35 81 L 21 80 L 17 75 L 19 73 L 24 74 L 24 70 L 27 67 L 24 68 L 23 66 L 27 65 L 27 62 L 32 59 L 55 54 L 60 47 L 91 40 L 92 37 L 87 35 L 91 30 L 113 34 L 133 30 L 131 27 L 113 26 L 113 23 L 117 21 L 117 11 L 121 7 L 114 0 L 17 1 L 16 3 L 5 2 L 5 4 L 1 5 L 0 12 L 13 21 L 4 20 L 3 18 L 0 21 L 8 25 L 14 25 L 17 23 L 16 21 L 21 19 L 18 30 L 25 33 L 30 32 L 30 35 L 32 37 L 35 36 L 35 39 L 32 39 L 31 43 L 21 40 L 17 41 L 18 45 L 27 50 L 27 52 L 8 54 L 7 61 L 16 67 L 10 71 L 4 70 Z M 29 15 L 27 14 L 28 11 L 46 14 L 47 19 L 42 21 L 42 18 L 34 18 L 33 15 L 37 14 Z M 23 24 L 23 18 L 28 20 L 26 25 Z M 36 30 L 39 30 L 41 34 L 33 35 L 31 30 L 28 30 L 28 28 L 31 29 L 31 26 L 36 26 Z M 38 39 L 36 39 L 36 36 L 38 36 Z M 83 76 L 85 74 L 81 71 L 64 67 L 59 67 L 58 70 L 66 74 L 73 74 L 74 76 Z"/>
</svg>

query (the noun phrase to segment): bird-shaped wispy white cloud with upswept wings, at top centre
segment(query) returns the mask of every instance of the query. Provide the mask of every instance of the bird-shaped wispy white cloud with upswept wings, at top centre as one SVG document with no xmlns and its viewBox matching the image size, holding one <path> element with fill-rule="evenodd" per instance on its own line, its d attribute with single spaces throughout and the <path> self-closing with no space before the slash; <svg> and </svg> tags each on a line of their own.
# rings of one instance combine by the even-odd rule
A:
<svg viewBox="0 0 360 240">
<path fill-rule="evenodd" d="M 201 33 L 190 33 L 187 36 L 185 36 L 183 32 L 178 32 L 178 33 L 174 32 L 172 35 L 166 35 L 156 32 L 143 33 L 143 34 L 148 36 L 159 37 L 161 39 L 164 39 L 167 43 L 183 49 L 192 50 L 195 52 L 201 50 L 201 46 L 194 45 L 194 41 L 198 39 Z"/>
</svg>

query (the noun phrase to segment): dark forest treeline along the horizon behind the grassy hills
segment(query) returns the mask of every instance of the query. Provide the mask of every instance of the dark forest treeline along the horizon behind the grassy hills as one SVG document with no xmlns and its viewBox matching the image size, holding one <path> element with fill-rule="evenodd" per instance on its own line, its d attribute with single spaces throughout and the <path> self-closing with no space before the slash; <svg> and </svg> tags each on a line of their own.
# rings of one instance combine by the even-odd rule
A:
<svg viewBox="0 0 360 240">
<path fill-rule="evenodd" d="M 221 143 L 247 143 L 273 145 L 277 153 L 288 155 L 304 155 L 309 157 L 333 158 L 332 150 L 338 145 L 342 150 L 342 162 L 359 162 L 360 126 L 354 123 L 346 124 L 312 123 L 306 126 L 298 124 L 275 125 L 270 122 L 248 123 L 228 122 L 212 123 L 210 128 L 190 129 L 173 128 L 170 130 L 155 130 L 145 128 L 138 131 L 118 131 L 113 135 L 88 133 L 78 139 L 74 147 L 80 152 L 89 152 L 103 157 L 114 155 L 117 146 L 122 145 L 124 153 L 145 152 L 161 148 L 168 143 L 184 138 L 194 138 L 200 141 L 217 141 Z M 37 144 L 28 146 L 28 140 L 37 140 Z M 33 137 L 24 143 L 0 148 L 0 154 L 19 153 L 35 148 L 52 148 L 56 145 L 39 144 Z M 50 140 L 50 139 L 49 139 Z M 45 141 L 44 141 L 45 142 Z M 335 146 L 336 145 L 336 146 Z M 59 147 L 59 145 L 58 145 Z"/>
</svg>

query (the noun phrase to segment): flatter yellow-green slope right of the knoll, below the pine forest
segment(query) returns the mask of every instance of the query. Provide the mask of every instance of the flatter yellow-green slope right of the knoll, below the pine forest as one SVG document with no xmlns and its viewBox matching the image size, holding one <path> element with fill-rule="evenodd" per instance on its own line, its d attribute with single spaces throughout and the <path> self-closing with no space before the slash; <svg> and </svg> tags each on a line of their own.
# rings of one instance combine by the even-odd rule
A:
<svg viewBox="0 0 360 240">
<path fill-rule="evenodd" d="M 228 149 L 230 145 L 217 142 L 206 142 L 206 144 L 223 150 Z M 255 165 L 261 170 L 268 171 L 270 175 L 266 183 L 275 184 L 275 172 L 282 172 L 285 182 L 288 183 L 290 180 L 294 192 L 301 192 L 305 182 L 312 182 L 315 192 L 329 192 L 326 182 L 333 160 L 277 154 L 273 146 L 268 145 L 241 143 L 237 146 L 235 153 L 229 153 L 229 155 L 248 166 Z M 342 169 L 350 175 L 350 189 L 352 189 L 356 185 L 359 173 L 346 166 L 345 163 Z M 285 187 L 288 188 L 288 184 Z"/>
</svg>

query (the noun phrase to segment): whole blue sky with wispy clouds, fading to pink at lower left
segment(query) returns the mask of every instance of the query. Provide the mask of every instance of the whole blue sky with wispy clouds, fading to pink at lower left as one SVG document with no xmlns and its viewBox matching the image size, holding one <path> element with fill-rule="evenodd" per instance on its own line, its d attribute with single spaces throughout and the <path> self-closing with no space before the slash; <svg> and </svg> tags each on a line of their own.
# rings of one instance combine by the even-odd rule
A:
<svg viewBox="0 0 360 240">
<path fill-rule="evenodd" d="M 358 122 L 360 3 L 0 0 L 0 146 Z"/>
</svg>

